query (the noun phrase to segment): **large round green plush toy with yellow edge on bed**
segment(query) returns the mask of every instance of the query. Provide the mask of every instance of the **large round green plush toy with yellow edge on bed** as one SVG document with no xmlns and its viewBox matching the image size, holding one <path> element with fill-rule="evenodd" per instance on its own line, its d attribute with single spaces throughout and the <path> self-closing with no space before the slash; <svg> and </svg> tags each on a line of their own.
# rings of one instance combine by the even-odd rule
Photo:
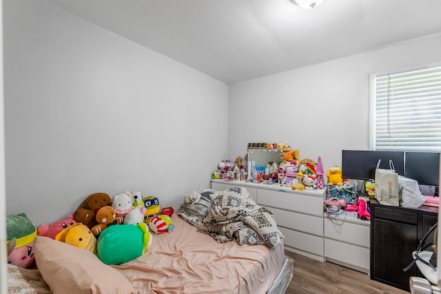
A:
<svg viewBox="0 0 441 294">
<path fill-rule="evenodd" d="M 99 235 L 98 258 L 105 264 L 129 262 L 147 251 L 152 234 L 145 222 L 110 226 Z"/>
</svg>

